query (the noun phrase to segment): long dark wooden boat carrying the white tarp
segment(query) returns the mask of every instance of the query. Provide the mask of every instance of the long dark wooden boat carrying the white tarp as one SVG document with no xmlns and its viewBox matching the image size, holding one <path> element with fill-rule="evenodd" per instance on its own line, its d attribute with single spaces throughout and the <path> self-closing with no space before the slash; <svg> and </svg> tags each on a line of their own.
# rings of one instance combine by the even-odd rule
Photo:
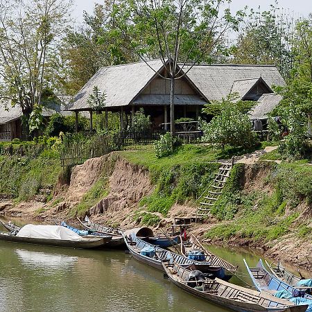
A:
<svg viewBox="0 0 312 312">
<path fill-rule="evenodd" d="M 19 237 L 8 232 L 0 232 L 0 241 L 10 241 L 15 243 L 26 243 L 33 245 L 49 245 L 68 248 L 91 249 L 99 248 L 104 245 L 103 238 L 82 238 L 81 241 L 69 241 L 66 239 L 35 239 L 29 237 Z"/>
</svg>

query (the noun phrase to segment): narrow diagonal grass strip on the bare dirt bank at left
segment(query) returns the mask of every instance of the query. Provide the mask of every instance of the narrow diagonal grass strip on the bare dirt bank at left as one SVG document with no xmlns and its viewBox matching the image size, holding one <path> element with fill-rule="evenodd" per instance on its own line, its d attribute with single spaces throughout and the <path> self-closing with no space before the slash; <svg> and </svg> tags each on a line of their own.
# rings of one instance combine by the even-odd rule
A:
<svg viewBox="0 0 312 312">
<path fill-rule="evenodd" d="M 85 216 L 85 213 L 109 193 L 107 177 L 101 177 L 91 189 L 85 193 L 80 203 L 69 211 L 69 216 Z"/>
</svg>

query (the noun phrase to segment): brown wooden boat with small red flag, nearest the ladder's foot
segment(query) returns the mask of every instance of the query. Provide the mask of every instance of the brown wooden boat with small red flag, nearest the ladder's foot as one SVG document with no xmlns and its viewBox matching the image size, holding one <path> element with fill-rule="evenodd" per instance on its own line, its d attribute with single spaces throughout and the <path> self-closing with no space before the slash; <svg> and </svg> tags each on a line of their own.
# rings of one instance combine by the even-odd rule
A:
<svg viewBox="0 0 312 312">
<path fill-rule="evenodd" d="M 206 261 L 213 266 L 222 266 L 229 272 L 233 273 L 239 268 L 239 266 L 234 266 L 232 263 L 216 256 L 216 254 L 209 252 L 193 234 L 189 235 L 189 241 L 184 242 L 181 238 L 180 248 L 181 254 L 185 257 Z"/>
</svg>

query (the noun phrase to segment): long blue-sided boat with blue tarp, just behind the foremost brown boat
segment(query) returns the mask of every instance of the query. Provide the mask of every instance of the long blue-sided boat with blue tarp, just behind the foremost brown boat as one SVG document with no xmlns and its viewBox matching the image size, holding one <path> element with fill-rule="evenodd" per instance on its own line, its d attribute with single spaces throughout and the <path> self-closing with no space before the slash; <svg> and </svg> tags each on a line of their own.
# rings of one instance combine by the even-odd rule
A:
<svg viewBox="0 0 312 312">
<path fill-rule="evenodd" d="M 130 234 L 128 235 L 127 232 L 123 233 L 123 238 L 132 256 L 137 261 L 145 263 L 148 266 L 153 266 L 157 270 L 164 271 L 164 267 L 162 266 L 163 260 L 173 259 L 181 266 L 209 273 L 211 278 L 220 277 L 221 279 L 229 279 L 231 277 L 225 275 L 225 270 L 221 266 L 211 266 L 209 262 L 188 259 L 181 254 L 175 254 L 169 250 L 147 243 L 139 239 L 134 232 L 128 233 Z"/>
</svg>

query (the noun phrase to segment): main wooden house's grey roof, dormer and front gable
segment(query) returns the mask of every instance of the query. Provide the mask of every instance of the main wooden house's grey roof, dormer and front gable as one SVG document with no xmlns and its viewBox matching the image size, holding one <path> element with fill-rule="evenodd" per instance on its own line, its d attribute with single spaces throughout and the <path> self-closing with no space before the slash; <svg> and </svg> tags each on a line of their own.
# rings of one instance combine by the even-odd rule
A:
<svg viewBox="0 0 312 312">
<path fill-rule="evenodd" d="M 149 66 L 148 66 L 149 65 Z M 134 114 L 140 107 L 151 117 L 153 125 L 170 120 L 170 80 L 161 60 L 103 67 L 80 89 L 69 105 L 69 110 L 89 111 L 89 94 L 98 87 L 106 94 L 106 112 L 121 112 L 121 128 L 124 117 Z M 150 69 L 152 67 L 153 69 Z M 258 101 L 263 94 L 272 94 L 272 85 L 285 85 L 284 79 L 274 66 L 268 65 L 196 65 L 175 83 L 175 119 L 198 119 L 202 107 L 211 101 L 236 94 L 242 100 Z M 157 73 L 155 73 L 155 71 Z"/>
</svg>

